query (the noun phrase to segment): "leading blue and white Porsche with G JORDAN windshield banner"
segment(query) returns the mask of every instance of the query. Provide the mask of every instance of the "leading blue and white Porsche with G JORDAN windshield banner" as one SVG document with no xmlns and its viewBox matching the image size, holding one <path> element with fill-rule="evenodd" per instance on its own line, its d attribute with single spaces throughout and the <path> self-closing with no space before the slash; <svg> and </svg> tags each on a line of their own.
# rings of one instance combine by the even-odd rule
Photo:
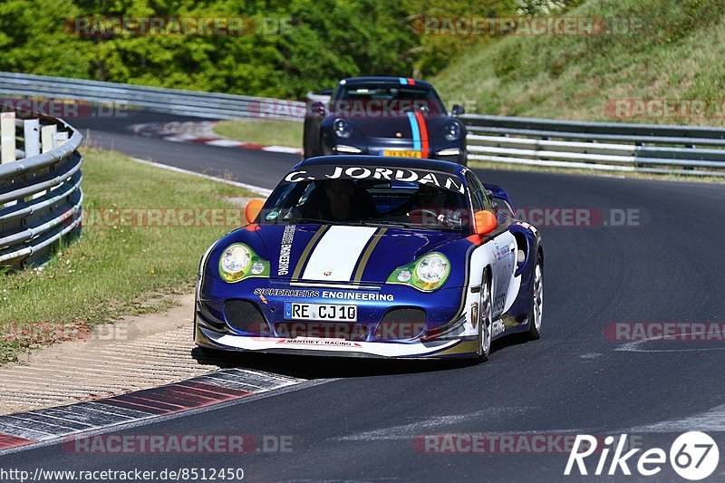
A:
<svg viewBox="0 0 725 483">
<path fill-rule="evenodd" d="M 202 257 L 195 342 L 486 360 L 502 335 L 541 333 L 541 236 L 513 213 L 456 163 L 306 159 Z"/>
</svg>

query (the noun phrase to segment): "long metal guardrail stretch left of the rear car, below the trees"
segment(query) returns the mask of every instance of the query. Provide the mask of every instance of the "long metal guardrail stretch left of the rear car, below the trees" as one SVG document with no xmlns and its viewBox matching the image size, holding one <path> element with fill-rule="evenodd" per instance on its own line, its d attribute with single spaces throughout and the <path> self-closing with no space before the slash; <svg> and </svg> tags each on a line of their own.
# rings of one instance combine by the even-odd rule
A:
<svg viewBox="0 0 725 483">
<path fill-rule="evenodd" d="M 302 121 L 306 109 L 306 104 L 300 101 L 0 72 L 0 96 L 19 95 L 124 105 L 209 119 L 264 117 Z"/>
</svg>

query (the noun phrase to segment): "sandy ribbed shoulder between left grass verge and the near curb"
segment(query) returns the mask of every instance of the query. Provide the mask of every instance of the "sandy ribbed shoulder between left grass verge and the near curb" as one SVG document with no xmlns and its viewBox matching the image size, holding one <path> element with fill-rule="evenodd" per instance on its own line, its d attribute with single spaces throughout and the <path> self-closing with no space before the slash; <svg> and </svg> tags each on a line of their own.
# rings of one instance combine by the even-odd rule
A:
<svg viewBox="0 0 725 483">
<path fill-rule="evenodd" d="M 95 326 L 73 342 L 24 354 L 0 368 L 0 414 L 147 389 L 217 371 L 192 341 L 194 295 L 167 312 Z"/>
</svg>

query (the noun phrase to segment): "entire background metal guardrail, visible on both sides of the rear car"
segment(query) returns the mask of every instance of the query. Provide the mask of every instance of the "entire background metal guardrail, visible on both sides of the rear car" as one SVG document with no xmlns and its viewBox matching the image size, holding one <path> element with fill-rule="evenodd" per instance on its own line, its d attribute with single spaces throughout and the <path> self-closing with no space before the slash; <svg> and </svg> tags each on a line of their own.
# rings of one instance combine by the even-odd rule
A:
<svg viewBox="0 0 725 483">
<path fill-rule="evenodd" d="M 96 102 L 209 119 L 303 121 L 300 101 L 0 72 L 0 96 Z M 620 122 L 460 117 L 469 159 L 557 168 L 693 176 L 725 174 L 725 130 Z"/>
</svg>

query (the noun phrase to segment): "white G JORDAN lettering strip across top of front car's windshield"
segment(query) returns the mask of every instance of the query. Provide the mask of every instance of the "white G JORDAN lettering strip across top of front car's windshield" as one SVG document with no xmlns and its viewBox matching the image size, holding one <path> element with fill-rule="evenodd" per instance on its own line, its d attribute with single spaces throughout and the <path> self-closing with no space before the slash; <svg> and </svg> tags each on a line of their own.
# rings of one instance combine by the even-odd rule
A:
<svg viewBox="0 0 725 483">
<path fill-rule="evenodd" d="M 428 138 L 426 134 L 426 146 Z M 422 141 L 421 141 L 422 143 Z M 422 144 L 421 144 L 422 146 Z M 364 166 L 324 166 L 320 169 L 300 169 L 292 171 L 285 176 L 285 181 L 298 183 L 314 179 L 384 179 L 387 181 L 407 181 L 421 185 L 435 185 L 439 188 L 466 193 L 463 180 L 457 176 L 446 173 L 428 171 L 424 169 L 389 169 Z"/>
</svg>

